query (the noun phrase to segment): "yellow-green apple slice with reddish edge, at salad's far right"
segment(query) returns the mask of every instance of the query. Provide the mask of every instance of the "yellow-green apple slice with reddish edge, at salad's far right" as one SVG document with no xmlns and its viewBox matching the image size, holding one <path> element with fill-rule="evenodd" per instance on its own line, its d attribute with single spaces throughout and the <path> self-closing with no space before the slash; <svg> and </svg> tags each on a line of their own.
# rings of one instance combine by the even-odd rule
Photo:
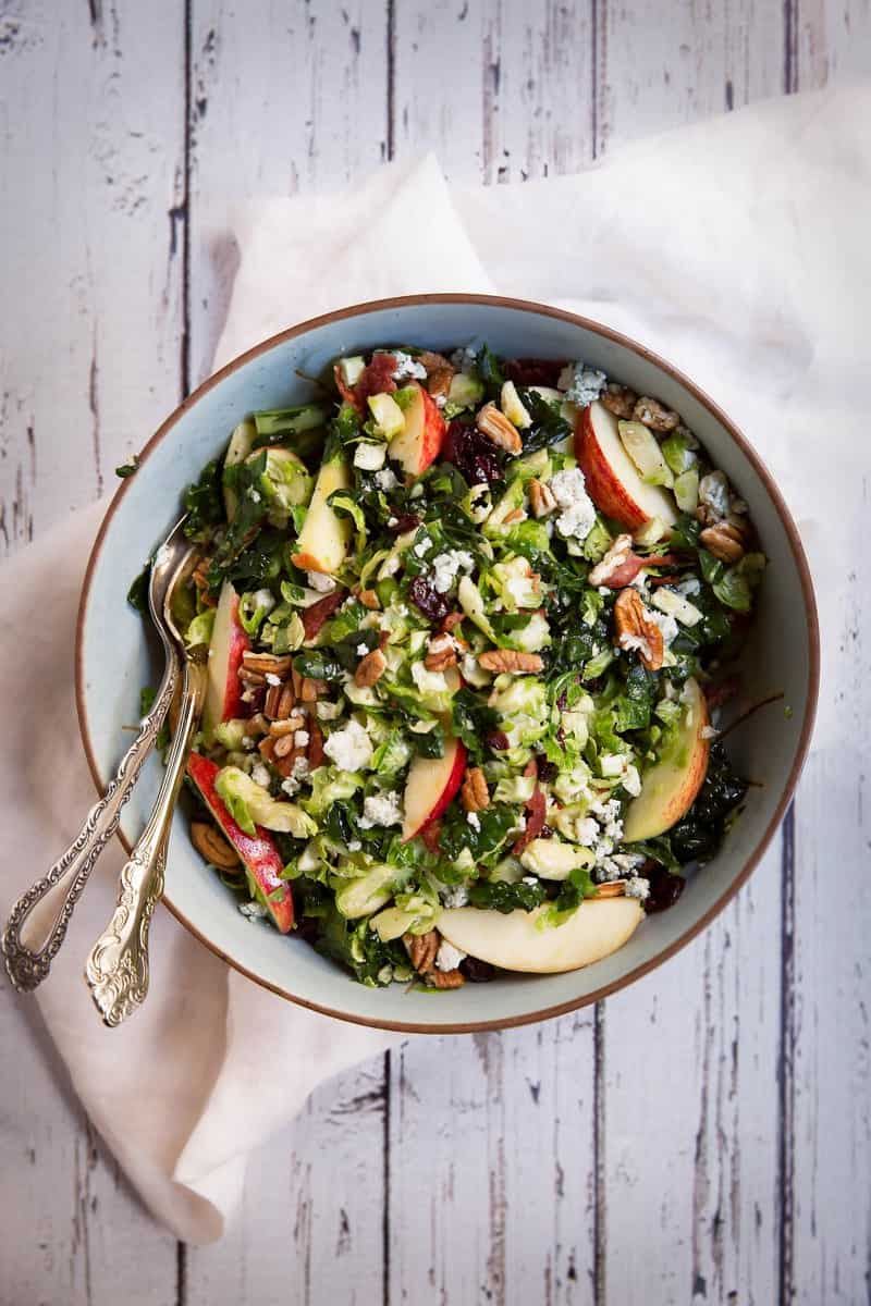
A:
<svg viewBox="0 0 871 1306">
<path fill-rule="evenodd" d="M 641 793 L 626 811 L 623 838 L 633 844 L 670 829 L 684 816 L 708 772 L 708 704 L 697 680 L 683 690 L 684 716 L 669 751 L 641 776 Z"/>
</svg>

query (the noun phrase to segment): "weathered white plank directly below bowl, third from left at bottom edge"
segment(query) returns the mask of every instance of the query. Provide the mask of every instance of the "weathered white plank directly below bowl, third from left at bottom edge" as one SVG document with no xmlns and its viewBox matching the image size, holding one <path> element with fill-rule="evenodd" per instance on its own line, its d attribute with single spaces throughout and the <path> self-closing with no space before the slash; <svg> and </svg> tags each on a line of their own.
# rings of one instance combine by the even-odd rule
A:
<svg viewBox="0 0 871 1306">
<path fill-rule="evenodd" d="M 390 1302 L 589 1299 L 593 1060 L 590 1011 L 393 1054 Z"/>
</svg>

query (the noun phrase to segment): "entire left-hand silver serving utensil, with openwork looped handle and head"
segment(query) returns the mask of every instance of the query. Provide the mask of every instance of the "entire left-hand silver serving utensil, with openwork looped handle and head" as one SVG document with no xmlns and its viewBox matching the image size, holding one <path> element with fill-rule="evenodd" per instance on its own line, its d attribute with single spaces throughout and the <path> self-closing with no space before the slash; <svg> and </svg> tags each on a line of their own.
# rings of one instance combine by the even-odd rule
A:
<svg viewBox="0 0 871 1306">
<path fill-rule="evenodd" d="M 149 581 L 149 609 L 163 643 L 163 679 L 140 731 L 124 754 L 115 778 L 87 814 L 85 824 L 67 852 L 43 879 L 37 880 L 12 909 L 0 940 L 7 972 L 20 993 L 29 993 L 46 978 L 97 858 L 118 828 L 142 763 L 154 747 L 182 677 L 178 629 L 167 620 L 167 601 L 176 579 L 191 565 L 195 550 L 176 522 L 158 549 Z M 137 845 L 138 846 L 138 845 Z M 127 870 L 127 867 L 125 867 Z"/>
</svg>

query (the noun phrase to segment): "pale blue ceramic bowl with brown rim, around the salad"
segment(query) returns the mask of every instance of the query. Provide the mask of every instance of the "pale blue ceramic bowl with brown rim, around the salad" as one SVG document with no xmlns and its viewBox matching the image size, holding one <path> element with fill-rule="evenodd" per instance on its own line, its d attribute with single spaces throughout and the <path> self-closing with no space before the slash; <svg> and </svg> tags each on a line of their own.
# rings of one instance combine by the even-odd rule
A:
<svg viewBox="0 0 871 1306">
<path fill-rule="evenodd" d="M 751 645 L 751 696 L 782 688 L 791 716 L 769 709 L 730 739 L 738 769 L 761 781 L 718 857 L 692 875 L 678 904 L 642 922 L 619 952 L 560 976 L 507 976 L 448 993 L 366 989 L 302 940 L 249 923 L 218 876 L 192 848 L 176 816 L 166 902 L 192 934 L 251 980 L 276 993 L 368 1025 L 400 1030 L 492 1029 L 555 1016 L 594 1002 L 650 970 L 697 934 L 743 884 L 786 810 L 804 759 L 816 705 L 819 635 L 814 593 L 795 525 L 759 457 L 729 418 L 687 377 L 633 341 L 541 304 L 484 295 L 415 295 L 345 308 L 265 341 L 210 377 L 153 436 L 140 470 L 123 482 L 91 554 L 76 650 L 82 739 L 102 790 L 124 751 L 121 724 L 136 721 L 138 692 L 157 684 L 159 662 L 142 622 L 125 603 L 131 580 L 179 516 L 180 495 L 219 453 L 232 427 L 255 409 L 300 404 L 340 354 L 384 342 L 443 350 L 486 340 L 508 357 L 582 358 L 640 393 L 676 409 L 713 461 L 747 500 L 770 565 Z M 124 808 L 131 844 L 159 782 L 151 759 Z"/>
</svg>

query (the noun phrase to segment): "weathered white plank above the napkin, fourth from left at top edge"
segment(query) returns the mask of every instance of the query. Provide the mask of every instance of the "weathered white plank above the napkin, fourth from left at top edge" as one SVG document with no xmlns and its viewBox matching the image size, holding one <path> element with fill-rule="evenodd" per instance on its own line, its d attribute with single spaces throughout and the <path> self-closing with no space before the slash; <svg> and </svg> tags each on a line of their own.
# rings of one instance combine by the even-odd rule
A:
<svg viewBox="0 0 871 1306">
<path fill-rule="evenodd" d="M 595 151 L 776 95 L 782 8 L 768 0 L 595 0 Z"/>
</svg>

